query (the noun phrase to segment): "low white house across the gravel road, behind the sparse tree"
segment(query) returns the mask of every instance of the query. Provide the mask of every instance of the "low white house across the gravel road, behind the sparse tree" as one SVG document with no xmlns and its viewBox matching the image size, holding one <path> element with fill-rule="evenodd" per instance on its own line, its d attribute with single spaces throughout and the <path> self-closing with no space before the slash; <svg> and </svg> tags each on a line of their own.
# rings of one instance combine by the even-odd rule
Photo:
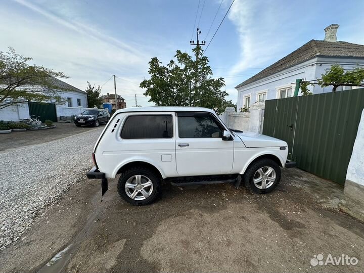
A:
<svg viewBox="0 0 364 273">
<path fill-rule="evenodd" d="M 40 116 L 40 120 L 51 119 L 57 121 L 60 116 L 72 116 L 79 114 L 87 107 L 87 93 L 57 78 L 50 79 L 51 84 L 62 90 L 59 95 L 65 104 L 52 103 L 28 103 L 15 104 L 0 109 L 0 120 L 22 120 L 30 115 Z M 34 106 L 35 105 L 35 106 Z M 39 107 L 36 107 L 38 105 Z M 47 108 L 48 106 L 48 108 Z M 45 110 L 45 108 L 47 108 Z"/>
</svg>

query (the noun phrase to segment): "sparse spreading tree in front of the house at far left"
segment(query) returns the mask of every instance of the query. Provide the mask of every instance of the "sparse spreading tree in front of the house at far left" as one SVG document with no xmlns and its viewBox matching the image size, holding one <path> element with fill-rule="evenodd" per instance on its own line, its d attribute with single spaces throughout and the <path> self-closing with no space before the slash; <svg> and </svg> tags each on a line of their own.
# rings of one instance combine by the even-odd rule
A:
<svg viewBox="0 0 364 273">
<path fill-rule="evenodd" d="M 0 109 L 28 101 L 62 103 L 59 92 L 63 88 L 53 79 L 67 76 L 44 66 L 29 65 L 31 60 L 11 47 L 7 53 L 0 52 Z"/>
</svg>

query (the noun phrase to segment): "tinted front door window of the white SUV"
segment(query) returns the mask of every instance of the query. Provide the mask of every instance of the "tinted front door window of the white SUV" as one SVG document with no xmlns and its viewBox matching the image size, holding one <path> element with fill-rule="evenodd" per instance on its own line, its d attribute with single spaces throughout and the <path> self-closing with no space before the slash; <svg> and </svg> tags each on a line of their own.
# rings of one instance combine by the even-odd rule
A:
<svg viewBox="0 0 364 273">
<path fill-rule="evenodd" d="M 178 116 L 179 138 L 222 138 L 222 130 L 211 115 Z"/>
</svg>

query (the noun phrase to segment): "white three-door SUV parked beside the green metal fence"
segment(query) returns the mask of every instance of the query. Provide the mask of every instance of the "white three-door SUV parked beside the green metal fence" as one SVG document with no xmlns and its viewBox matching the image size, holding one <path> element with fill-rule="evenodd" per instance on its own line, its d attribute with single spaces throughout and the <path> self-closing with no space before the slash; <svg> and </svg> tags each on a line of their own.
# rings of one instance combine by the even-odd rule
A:
<svg viewBox="0 0 364 273">
<path fill-rule="evenodd" d="M 158 196 L 162 180 L 172 185 L 244 182 L 254 193 L 272 191 L 286 162 L 287 143 L 266 135 L 229 129 L 214 111 L 195 107 L 118 110 L 101 133 L 88 178 L 121 174 L 118 192 L 134 205 Z"/>
</svg>

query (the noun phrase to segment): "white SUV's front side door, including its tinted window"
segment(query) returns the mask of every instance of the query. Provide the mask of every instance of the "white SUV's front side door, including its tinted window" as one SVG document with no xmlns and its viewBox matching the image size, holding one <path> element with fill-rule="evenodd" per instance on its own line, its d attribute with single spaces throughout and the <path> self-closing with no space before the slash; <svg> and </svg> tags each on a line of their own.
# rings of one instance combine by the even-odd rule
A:
<svg viewBox="0 0 364 273">
<path fill-rule="evenodd" d="M 224 126 L 208 112 L 176 113 L 176 164 L 181 176 L 232 171 L 234 141 L 222 140 Z"/>
</svg>

